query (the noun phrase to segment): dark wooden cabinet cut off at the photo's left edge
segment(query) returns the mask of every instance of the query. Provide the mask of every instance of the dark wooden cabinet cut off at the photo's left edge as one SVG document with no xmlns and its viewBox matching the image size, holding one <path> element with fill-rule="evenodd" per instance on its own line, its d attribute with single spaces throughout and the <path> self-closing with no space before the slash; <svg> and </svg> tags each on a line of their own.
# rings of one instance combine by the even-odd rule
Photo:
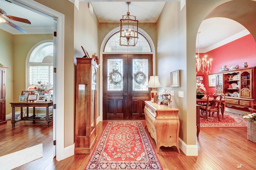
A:
<svg viewBox="0 0 256 170">
<path fill-rule="evenodd" d="M 0 125 L 7 123 L 5 111 L 6 69 L 8 67 L 0 66 Z"/>
</svg>

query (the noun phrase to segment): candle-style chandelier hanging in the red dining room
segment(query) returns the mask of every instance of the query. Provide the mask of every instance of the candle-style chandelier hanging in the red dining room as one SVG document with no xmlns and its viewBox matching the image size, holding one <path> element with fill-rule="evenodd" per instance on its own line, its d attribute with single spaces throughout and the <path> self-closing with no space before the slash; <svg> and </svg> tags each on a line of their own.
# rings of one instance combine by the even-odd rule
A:
<svg viewBox="0 0 256 170">
<path fill-rule="evenodd" d="M 203 73 L 211 73 L 212 69 L 212 59 L 210 61 L 207 61 L 207 55 L 204 55 L 202 59 L 199 57 L 199 34 L 201 32 L 198 32 L 198 55 L 196 55 L 196 73 L 199 71 L 202 71 Z"/>
</svg>

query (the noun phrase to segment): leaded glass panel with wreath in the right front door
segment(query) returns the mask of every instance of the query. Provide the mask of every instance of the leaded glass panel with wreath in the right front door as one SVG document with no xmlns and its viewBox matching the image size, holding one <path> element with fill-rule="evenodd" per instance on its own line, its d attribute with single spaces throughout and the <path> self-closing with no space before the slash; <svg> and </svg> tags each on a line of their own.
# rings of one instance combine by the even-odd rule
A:
<svg viewBox="0 0 256 170">
<path fill-rule="evenodd" d="M 132 90 L 147 91 L 148 88 L 148 59 L 132 60 Z"/>
</svg>

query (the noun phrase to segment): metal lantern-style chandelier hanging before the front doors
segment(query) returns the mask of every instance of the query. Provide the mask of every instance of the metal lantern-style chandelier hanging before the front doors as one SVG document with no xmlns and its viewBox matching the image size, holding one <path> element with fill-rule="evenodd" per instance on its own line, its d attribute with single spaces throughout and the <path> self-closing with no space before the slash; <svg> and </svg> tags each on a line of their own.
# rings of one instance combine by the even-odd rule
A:
<svg viewBox="0 0 256 170">
<path fill-rule="evenodd" d="M 136 16 L 130 15 L 129 5 L 131 2 L 126 2 L 128 11 L 120 20 L 120 45 L 135 46 L 138 41 L 138 20 Z M 125 28 L 124 28 L 125 27 Z"/>
</svg>

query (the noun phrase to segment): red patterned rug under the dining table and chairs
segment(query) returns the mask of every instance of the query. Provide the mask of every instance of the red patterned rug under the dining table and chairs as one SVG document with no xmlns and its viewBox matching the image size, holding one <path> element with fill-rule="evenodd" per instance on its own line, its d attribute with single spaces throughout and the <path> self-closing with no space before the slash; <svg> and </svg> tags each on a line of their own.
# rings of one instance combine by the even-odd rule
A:
<svg viewBox="0 0 256 170">
<path fill-rule="evenodd" d="M 218 120 L 218 116 L 214 113 L 214 117 L 208 117 L 206 120 L 206 115 L 200 113 L 200 127 L 247 127 L 247 121 L 243 119 L 242 115 L 238 115 L 236 113 L 224 112 L 224 119 L 222 119 L 222 115 L 220 114 L 220 121 Z"/>
</svg>

